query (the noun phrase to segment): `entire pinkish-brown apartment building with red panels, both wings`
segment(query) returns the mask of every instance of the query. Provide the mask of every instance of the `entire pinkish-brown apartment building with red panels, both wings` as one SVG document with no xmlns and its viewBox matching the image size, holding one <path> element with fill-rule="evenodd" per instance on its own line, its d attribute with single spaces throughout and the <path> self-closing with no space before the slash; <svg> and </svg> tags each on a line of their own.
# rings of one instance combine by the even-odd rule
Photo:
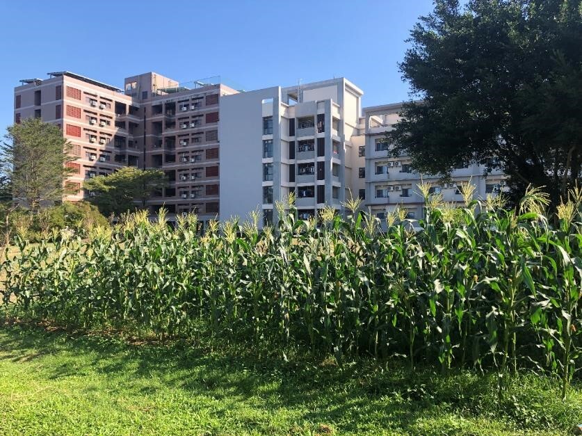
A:
<svg viewBox="0 0 582 436">
<path fill-rule="evenodd" d="M 84 179 L 108 175 L 125 165 L 161 168 L 168 187 L 149 200 L 152 213 L 165 207 L 195 212 L 201 221 L 216 218 L 218 196 L 218 106 L 236 93 L 220 78 L 179 83 L 154 72 L 125 79 L 124 89 L 71 72 L 49 79 L 27 79 L 15 88 L 15 122 L 42 118 L 57 124 L 78 159 L 67 184 L 79 192 L 66 200 L 90 197 Z"/>
</svg>

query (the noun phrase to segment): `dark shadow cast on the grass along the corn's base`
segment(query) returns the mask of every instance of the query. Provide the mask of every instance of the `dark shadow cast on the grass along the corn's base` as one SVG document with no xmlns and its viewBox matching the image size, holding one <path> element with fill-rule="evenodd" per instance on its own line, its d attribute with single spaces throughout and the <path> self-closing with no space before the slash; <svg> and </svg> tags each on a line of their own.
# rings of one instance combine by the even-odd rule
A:
<svg viewBox="0 0 582 436">
<path fill-rule="evenodd" d="M 464 371 L 442 377 L 370 360 L 340 367 L 330 359 L 305 356 L 283 362 L 256 357 L 243 346 L 211 352 L 185 342 L 131 345 L 116 336 L 71 335 L 30 325 L 3 327 L 0 332 L 0 350 L 9 350 L 3 359 L 33 362 L 51 355 L 70 357 L 44 370 L 51 379 L 95 371 L 112 382 L 113 394 L 153 395 L 159 389 L 179 389 L 223 401 L 225 407 L 247 402 L 272 414 L 293 410 L 303 421 L 333 423 L 348 433 L 373 428 L 416 433 L 419 420 L 443 412 L 496 418 L 531 429 L 567 428 L 572 419 L 561 417 L 561 421 L 558 412 L 552 417 L 551 410 L 545 410 L 549 419 L 541 415 L 532 419 L 528 400 L 519 409 L 515 396 L 512 402 L 499 404 L 492 374 Z M 83 364 L 76 362 L 79 359 Z M 520 414 L 531 419 L 524 421 Z"/>
</svg>

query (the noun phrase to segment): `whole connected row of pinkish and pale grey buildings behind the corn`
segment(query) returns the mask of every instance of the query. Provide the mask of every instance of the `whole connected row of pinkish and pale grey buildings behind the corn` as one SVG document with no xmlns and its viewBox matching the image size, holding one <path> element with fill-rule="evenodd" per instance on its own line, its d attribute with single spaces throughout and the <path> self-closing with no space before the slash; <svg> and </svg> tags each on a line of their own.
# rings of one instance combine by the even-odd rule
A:
<svg viewBox="0 0 582 436">
<path fill-rule="evenodd" d="M 421 181 L 460 204 L 458 186 L 471 181 L 476 197 L 503 189 L 499 171 L 458 168 L 452 181 L 410 169 L 408 156 L 389 156 L 385 133 L 402 104 L 361 107 L 363 92 L 344 78 L 239 92 L 220 78 L 179 83 L 154 72 L 127 77 L 124 89 L 71 72 L 28 79 L 15 88 L 15 122 L 57 124 L 73 145 L 79 190 L 83 180 L 123 166 L 159 168 L 168 186 L 148 200 L 152 214 L 197 213 L 207 220 L 245 219 L 260 211 L 262 225 L 277 219 L 275 202 L 296 196 L 298 218 L 324 207 L 343 213 L 350 197 L 383 221 L 397 207 L 423 217 Z"/>
</svg>

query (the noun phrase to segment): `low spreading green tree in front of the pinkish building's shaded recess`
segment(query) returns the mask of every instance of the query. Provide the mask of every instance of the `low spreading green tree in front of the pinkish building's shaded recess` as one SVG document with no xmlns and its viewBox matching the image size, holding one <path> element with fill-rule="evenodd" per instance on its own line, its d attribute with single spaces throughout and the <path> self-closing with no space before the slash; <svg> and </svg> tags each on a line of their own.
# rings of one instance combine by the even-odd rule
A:
<svg viewBox="0 0 582 436">
<path fill-rule="evenodd" d="M 94 193 L 90 202 L 105 216 L 121 213 L 137 207 L 136 201 L 145 202 L 152 193 L 166 184 L 162 170 L 140 170 L 124 167 L 111 175 L 98 176 L 83 183 L 83 188 Z"/>
</svg>

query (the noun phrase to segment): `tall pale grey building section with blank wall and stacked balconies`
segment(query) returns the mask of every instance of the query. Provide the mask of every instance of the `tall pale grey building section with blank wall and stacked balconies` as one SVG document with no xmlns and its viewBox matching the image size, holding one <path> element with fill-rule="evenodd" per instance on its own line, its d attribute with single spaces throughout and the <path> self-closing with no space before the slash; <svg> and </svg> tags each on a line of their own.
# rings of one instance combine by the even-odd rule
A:
<svg viewBox="0 0 582 436">
<path fill-rule="evenodd" d="M 260 210 L 261 225 L 272 223 L 275 202 L 290 192 L 301 219 L 325 206 L 341 212 L 358 168 L 353 138 L 362 94 L 340 78 L 224 97 L 220 218 L 245 219 Z"/>
</svg>

